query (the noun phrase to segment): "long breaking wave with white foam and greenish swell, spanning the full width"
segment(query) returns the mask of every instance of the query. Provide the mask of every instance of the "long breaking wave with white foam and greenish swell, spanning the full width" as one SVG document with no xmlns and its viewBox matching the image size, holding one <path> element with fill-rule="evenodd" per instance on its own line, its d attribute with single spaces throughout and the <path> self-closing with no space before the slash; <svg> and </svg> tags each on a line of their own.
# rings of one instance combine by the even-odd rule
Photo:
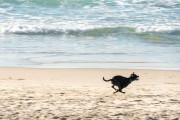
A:
<svg viewBox="0 0 180 120">
<path fill-rule="evenodd" d="M 180 35 L 180 28 L 173 26 L 89 26 L 69 27 L 57 25 L 0 25 L 0 34 L 18 35 L 74 35 L 108 36 L 121 34 L 165 33 Z"/>
</svg>

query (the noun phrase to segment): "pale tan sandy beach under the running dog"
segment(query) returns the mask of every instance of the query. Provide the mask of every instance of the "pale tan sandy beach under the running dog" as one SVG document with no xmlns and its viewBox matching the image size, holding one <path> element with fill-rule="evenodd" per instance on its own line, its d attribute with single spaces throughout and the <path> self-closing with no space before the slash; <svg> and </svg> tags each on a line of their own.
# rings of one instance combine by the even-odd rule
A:
<svg viewBox="0 0 180 120">
<path fill-rule="evenodd" d="M 139 81 L 117 93 L 114 75 Z M 179 120 L 180 71 L 0 68 L 0 119 Z"/>
</svg>

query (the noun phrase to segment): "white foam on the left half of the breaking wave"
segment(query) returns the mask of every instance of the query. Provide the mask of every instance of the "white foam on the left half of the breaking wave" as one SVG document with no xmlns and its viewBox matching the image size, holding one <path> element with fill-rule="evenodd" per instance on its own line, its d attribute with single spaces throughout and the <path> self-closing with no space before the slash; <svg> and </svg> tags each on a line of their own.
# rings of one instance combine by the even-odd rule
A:
<svg viewBox="0 0 180 120">
<path fill-rule="evenodd" d="M 9 24 L 0 24 L 0 28 L 0 34 L 68 34 L 68 32 L 80 32 L 93 29 L 94 26 L 73 22 L 51 24 L 12 22 Z"/>
</svg>

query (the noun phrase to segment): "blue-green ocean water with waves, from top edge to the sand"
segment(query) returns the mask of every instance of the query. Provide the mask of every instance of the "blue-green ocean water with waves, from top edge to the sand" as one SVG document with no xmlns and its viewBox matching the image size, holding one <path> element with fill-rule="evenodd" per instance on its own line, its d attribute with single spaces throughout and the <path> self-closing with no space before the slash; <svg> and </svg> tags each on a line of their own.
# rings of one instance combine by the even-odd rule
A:
<svg viewBox="0 0 180 120">
<path fill-rule="evenodd" d="M 0 66 L 180 69 L 180 0 L 0 0 Z"/>
</svg>

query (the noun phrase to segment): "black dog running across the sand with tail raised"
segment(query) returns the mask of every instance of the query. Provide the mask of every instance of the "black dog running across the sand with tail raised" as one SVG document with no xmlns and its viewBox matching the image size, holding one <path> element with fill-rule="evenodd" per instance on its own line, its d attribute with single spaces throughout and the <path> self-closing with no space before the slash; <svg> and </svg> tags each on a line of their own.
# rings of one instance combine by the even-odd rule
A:
<svg viewBox="0 0 180 120">
<path fill-rule="evenodd" d="M 133 74 L 131 74 L 129 78 L 117 75 L 117 76 L 114 76 L 110 80 L 105 80 L 103 77 L 103 80 L 106 82 L 111 81 L 111 83 L 113 84 L 112 88 L 115 89 L 114 93 L 117 93 L 117 92 L 125 93 L 122 91 L 122 89 L 127 87 L 134 80 L 139 80 L 139 76 L 134 74 L 134 72 L 133 72 Z M 114 86 L 117 86 L 119 89 L 116 89 Z"/>
</svg>

